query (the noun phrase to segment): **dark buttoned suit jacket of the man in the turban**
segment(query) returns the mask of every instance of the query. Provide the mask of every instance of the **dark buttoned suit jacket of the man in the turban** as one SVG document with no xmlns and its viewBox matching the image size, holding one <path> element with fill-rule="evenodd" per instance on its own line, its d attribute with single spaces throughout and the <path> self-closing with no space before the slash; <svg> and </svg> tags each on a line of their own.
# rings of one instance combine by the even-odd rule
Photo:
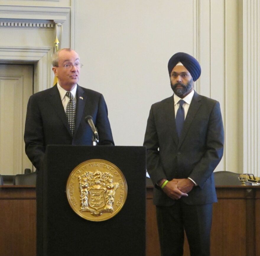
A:
<svg viewBox="0 0 260 256">
<path fill-rule="evenodd" d="M 169 198 L 156 182 L 162 178 L 190 177 L 198 186 L 182 200 L 187 204 L 217 201 L 213 171 L 223 155 L 224 128 L 220 104 L 194 92 L 180 139 L 175 124 L 173 96 L 152 105 L 147 120 L 144 146 L 147 171 L 157 189 L 154 203 L 170 206 Z"/>
</svg>

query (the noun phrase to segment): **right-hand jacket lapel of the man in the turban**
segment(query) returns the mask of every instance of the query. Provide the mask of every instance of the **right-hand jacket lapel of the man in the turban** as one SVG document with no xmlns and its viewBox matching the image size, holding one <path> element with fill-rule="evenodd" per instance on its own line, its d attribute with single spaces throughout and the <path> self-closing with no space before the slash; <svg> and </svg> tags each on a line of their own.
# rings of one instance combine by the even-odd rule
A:
<svg viewBox="0 0 260 256">
<path fill-rule="evenodd" d="M 179 139 L 178 148 L 183 143 L 183 140 L 187 135 L 187 132 L 188 132 L 190 126 L 191 126 L 191 123 L 192 123 L 196 113 L 198 112 L 199 107 L 201 106 L 200 100 L 201 100 L 201 96 L 194 91 L 194 95 L 193 95 L 192 100 L 191 100 L 191 105 L 189 107 L 188 113 L 187 113 L 186 118 L 185 118 L 183 130 L 182 130 L 182 133 L 181 133 L 181 138 Z"/>
</svg>

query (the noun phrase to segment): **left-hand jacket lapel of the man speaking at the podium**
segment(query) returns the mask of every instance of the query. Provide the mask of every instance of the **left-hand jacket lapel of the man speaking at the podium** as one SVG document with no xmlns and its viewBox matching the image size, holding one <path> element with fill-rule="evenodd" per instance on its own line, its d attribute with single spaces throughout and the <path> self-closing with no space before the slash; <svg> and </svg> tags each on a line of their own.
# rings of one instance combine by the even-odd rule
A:
<svg viewBox="0 0 260 256">
<path fill-rule="evenodd" d="M 68 130 L 68 132 L 71 134 L 70 128 L 69 128 L 69 122 L 66 116 L 66 113 L 64 111 L 62 102 L 61 102 L 61 96 L 57 88 L 57 84 L 53 86 L 51 92 L 50 92 L 50 102 L 53 106 L 53 109 L 56 111 L 58 117 L 61 119 L 62 123 Z"/>
</svg>

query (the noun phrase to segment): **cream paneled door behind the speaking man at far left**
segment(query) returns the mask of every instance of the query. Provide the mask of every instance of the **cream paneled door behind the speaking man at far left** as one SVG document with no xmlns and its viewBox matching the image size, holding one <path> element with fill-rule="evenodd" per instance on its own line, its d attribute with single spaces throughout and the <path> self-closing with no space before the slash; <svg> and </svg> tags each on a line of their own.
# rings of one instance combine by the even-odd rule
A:
<svg viewBox="0 0 260 256">
<path fill-rule="evenodd" d="M 32 169 L 23 140 L 27 102 L 33 93 L 32 65 L 0 65 L 0 173 Z"/>
</svg>

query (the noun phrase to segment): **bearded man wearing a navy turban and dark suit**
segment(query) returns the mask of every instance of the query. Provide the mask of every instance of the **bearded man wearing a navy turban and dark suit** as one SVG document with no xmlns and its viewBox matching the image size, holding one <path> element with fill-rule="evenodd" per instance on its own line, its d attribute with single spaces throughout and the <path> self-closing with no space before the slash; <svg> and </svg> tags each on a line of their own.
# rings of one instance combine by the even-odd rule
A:
<svg viewBox="0 0 260 256">
<path fill-rule="evenodd" d="M 174 94 L 152 105 L 144 138 L 161 255 L 183 255 L 185 230 L 191 255 L 206 256 L 224 145 L 220 104 L 194 91 L 201 67 L 191 55 L 174 54 L 168 71 Z"/>
</svg>

